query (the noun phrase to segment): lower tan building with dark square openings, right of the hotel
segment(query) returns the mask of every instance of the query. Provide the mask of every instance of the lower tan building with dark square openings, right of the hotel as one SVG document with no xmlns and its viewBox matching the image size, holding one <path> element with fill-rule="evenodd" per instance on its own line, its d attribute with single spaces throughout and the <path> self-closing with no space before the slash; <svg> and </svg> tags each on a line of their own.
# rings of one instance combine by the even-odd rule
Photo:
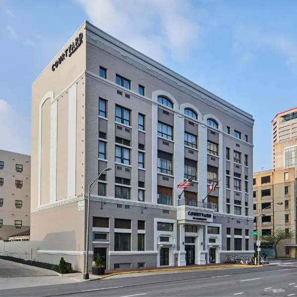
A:
<svg viewBox="0 0 297 297">
<path fill-rule="evenodd" d="M 253 174 L 254 230 L 257 230 L 259 223 L 260 239 L 264 235 L 273 234 L 277 229 L 296 232 L 296 201 L 294 167 L 270 169 Z M 280 202 L 283 204 L 277 204 Z M 268 209 L 263 210 L 266 207 Z M 259 211 L 263 214 L 260 222 Z M 254 237 L 255 240 L 256 237 Z M 267 244 L 261 242 L 263 252 L 266 252 L 266 246 Z M 296 237 L 281 242 L 277 247 L 277 255 L 296 258 Z"/>
</svg>

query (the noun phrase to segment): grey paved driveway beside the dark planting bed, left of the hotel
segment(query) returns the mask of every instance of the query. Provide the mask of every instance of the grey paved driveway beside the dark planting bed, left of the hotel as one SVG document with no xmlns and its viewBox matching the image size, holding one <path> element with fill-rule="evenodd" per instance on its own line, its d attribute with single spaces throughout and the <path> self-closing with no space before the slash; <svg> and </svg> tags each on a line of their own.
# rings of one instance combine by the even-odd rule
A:
<svg viewBox="0 0 297 297">
<path fill-rule="evenodd" d="M 0 259 L 0 278 L 1 277 L 20 277 L 20 276 L 45 276 L 56 275 L 56 273 L 49 270 L 41 269 L 39 267 L 23 265 L 11 261 Z M 1 288 L 0 288 L 1 289 Z"/>
</svg>

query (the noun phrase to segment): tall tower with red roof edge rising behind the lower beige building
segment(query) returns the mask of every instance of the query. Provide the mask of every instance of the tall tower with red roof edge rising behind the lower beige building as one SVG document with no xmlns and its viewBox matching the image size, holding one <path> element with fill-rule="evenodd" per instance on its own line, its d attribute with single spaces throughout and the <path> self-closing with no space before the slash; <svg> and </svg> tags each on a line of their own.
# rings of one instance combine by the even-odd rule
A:
<svg viewBox="0 0 297 297">
<path fill-rule="evenodd" d="M 297 176 L 297 107 L 279 112 L 271 121 L 272 167 L 295 167 Z"/>
</svg>

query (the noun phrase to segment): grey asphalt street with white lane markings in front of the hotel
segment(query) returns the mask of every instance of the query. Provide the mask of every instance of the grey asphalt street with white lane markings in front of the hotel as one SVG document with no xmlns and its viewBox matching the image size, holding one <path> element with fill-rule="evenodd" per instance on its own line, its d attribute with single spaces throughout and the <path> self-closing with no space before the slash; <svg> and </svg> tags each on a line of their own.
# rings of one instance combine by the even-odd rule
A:
<svg viewBox="0 0 297 297">
<path fill-rule="evenodd" d="M 0 290 L 0 296 L 292 296 L 297 297 L 297 262 L 282 265 L 196 270 L 105 279 L 85 283 Z"/>
</svg>

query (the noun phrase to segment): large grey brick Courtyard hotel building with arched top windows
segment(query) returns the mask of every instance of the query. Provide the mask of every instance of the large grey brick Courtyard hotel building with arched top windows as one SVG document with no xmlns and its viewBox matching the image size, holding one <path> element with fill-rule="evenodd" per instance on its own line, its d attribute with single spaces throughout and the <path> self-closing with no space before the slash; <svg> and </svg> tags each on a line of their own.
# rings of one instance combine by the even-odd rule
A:
<svg viewBox="0 0 297 297">
<path fill-rule="evenodd" d="M 104 168 L 90 265 L 98 253 L 107 269 L 253 254 L 252 128 L 247 112 L 85 22 L 32 86 L 39 260 L 83 271 L 88 187 Z"/>
</svg>

